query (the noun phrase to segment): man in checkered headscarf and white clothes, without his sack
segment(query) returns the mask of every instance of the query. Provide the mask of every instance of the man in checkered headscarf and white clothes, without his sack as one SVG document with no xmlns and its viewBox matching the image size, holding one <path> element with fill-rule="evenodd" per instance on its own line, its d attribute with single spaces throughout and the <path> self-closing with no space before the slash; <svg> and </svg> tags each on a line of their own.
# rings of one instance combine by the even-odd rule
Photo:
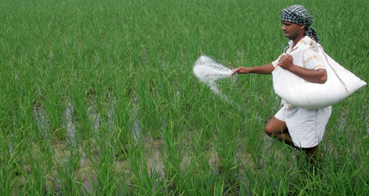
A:
<svg viewBox="0 0 369 196">
<path fill-rule="evenodd" d="M 327 74 L 324 64 L 318 52 L 312 47 L 316 42 L 320 44 L 316 31 L 311 27 L 313 17 L 305 7 L 294 5 L 281 10 L 280 19 L 284 36 L 290 39 L 284 53 L 270 64 L 258 67 L 237 67 L 232 70 L 232 74 L 271 74 L 277 66 L 280 66 L 307 82 L 325 83 Z M 293 64 L 293 57 L 289 54 L 298 48 L 302 48 L 303 55 L 300 56 L 303 59 L 294 62 L 303 62 L 301 65 Z M 282 105 L 265 126 L 265 132 L 272 138 L 301 148 L 308 155 L 310 163 L 314 165 L 321 157 L 318 145 L 322 141 L 325 125 L 331 116 L 332 106 L 308 110 L 293 107 L 284 100 Z"/>
</svg>

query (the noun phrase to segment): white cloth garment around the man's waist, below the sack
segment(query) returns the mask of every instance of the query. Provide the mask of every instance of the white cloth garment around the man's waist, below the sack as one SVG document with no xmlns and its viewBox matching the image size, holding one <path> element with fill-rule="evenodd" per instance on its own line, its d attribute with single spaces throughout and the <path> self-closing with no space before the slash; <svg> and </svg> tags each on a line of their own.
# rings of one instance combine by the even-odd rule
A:
<svg viewBox="0 0 369 196">
<path fill-rule="evenodd" d="M 311 148 L 322 141 L 331 113 L 332 106 L 317 110 L 282 107 L 275 117 L 286 123 L 295 146 Z"/>
</svg>

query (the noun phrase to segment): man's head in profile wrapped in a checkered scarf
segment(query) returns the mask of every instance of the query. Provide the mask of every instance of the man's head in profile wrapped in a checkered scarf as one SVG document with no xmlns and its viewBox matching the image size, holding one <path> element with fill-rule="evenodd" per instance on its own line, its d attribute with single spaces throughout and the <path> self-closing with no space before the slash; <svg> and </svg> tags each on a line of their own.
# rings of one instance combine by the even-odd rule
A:
<svg viewBox="0 0 369 196">
<path fill-rule="evenodd" d="M 280 20 L 284 35 L 290 40 L 296 37 L 297 33 L 304 33 L 314 38 L 320 43 L 315 30 L 311 27 L 313 16 L 311 16 L 305 7 L 301 5 L 293 5 L 281 10 Z"/>
</svg>

